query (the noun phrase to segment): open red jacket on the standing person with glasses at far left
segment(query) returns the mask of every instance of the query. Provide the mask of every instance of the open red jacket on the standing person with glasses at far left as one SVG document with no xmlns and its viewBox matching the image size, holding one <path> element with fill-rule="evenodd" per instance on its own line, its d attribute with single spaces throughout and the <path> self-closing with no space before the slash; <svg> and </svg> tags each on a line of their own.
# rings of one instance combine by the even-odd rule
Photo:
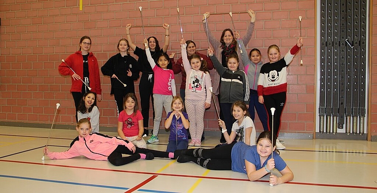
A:
<svg viewBox="0 0 377 193">
<path fill-rule="evenodd" d="M 73 54 L 70 54 L 66 59 L 65 63 L 76 72 L 77 75 L 83 78 L 83 57 L 81 51 L 76 51 Z M 88 56 L 88 65 L 89 65 L 89 83 L 92 92 L 101 95 L 101 80 L 100 80 L 100 71 L 98 67 L 97 58 L 93 55 L 93 52 L 89 52 Z M 59 73 L 63 76 L 71 76 L 72 87 L 69 92 L 80 92 L 82 88 L 82 82 L 80 80 L 73 80 L 72 75 L 74 74 L 63 62 L 59 65 Z"/>
</svg>

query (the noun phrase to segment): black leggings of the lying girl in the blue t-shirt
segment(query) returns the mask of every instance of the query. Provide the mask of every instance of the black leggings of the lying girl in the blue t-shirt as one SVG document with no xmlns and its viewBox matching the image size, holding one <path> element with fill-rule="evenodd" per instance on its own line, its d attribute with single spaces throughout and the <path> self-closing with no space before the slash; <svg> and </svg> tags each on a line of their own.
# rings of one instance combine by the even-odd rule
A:
<svg viewBox="0 0 377 193">
<path fill-rule="evenodd" d="M 232 170 L 232 148 L 236 143 L 215 148 L 195 148 L 182 151 L 190 161 L 210 170 Z"/>
</svg>

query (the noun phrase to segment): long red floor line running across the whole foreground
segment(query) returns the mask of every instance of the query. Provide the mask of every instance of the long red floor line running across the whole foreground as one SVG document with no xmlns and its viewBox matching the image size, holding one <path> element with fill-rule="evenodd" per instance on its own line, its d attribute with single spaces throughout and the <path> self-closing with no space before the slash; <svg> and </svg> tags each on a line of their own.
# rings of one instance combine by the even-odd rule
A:
<svg viewBox="0 0 377 193">
<path fill-rule="evenodd" d="M 240 178 L 194 176 L 194 175 L 183 175 L 183 174 L 163 174 L 163 173 L 153 173 L 153 172 L 138 172 L 138 171 L 91 168 L 91 167 L 81 167 L 81 166 L 67 166 L 67 165 L 59 165 L 59 164 L 37 163 L 37 162 L 27 162 L 27 161 L 14 161 L 14 160 L 1 160 L 1 159 L 0 159 L 0 161 L 2 161 L 2 162 L 12 162 L 12 163 L 35 164 L 35 165 L 48 165 L 48 166 L 66 167 L 66 168 L 90 169 L 90 170 L 99 170 L 99 171 L 113 171 L 113 172 L 123 172 L 123 173 L 133 173 L 133 174 L 149 174 L 149 175 L 153 175 L 153 176 L 156 175 L 156 176 L 174 176 L 174 177 L 186 177 L 186 178 L 201 178 L 201 179 L 212 179 L 212 180 L 249 181 L 248 179 L 240 179 Z M 268 183 L 267 180 L 256 180 L 254 182 Z M 286 184 L 377 190 L 377 187 L 336 185 L 336 184 L 318 184 L 318 183 L 305 183 L 305 182 L 287 182 Z"/>
</svg>

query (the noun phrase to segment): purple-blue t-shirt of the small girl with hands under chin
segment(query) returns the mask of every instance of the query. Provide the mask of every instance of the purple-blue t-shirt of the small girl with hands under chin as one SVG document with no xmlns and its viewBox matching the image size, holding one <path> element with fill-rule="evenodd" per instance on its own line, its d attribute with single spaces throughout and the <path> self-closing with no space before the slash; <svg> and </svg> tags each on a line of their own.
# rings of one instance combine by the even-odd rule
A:
<svg viewBox="0 0 377 193">
<path fill-rule="evenodd" d="M 172 112 L 168 112 L 167 117 L 169 117 L 170 114 L 172 114 Z M 186 112 L 182 112 L 182 114 L 188 120 L 188 114 Z M 176 126 L 178 129 L 176 129 Z M 176 132 L 178 134 L 177 136 L 176 136 Z M 187 130 L 183 126 L 181 117 L 178 119 L 176 119 L 176 117 L 173 117 L 172 124 L 170 124 L 169 142 L 176 141 L 176 137 L 178 138 L 178 141 L 188 141 Z"/>
</svg>

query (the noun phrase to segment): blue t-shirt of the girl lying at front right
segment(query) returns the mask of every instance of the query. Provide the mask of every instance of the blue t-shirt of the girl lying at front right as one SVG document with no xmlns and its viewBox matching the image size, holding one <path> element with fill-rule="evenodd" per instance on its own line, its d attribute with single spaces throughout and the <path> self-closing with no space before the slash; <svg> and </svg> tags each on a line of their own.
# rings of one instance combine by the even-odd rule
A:
<svg viewBox="0 0 377 193">
<path fill-rule="evenodd" d="M 273 152 L 275 159 L 275 168 L 282 171 L 287 164 L 280 157 L 278 153 Z M 260 165 L 260 157 L 256 151 L 256 145 L 246 145 L 243 142 L 236 143 L 232 148 L 232 170 L 236 172 L 246 173 L 245 160 L 255 165 L 255 169 L 259 170 L 267 164 L 267 161 L 271 158 L 269 155 L 263 165 Z"/>
</svg>

